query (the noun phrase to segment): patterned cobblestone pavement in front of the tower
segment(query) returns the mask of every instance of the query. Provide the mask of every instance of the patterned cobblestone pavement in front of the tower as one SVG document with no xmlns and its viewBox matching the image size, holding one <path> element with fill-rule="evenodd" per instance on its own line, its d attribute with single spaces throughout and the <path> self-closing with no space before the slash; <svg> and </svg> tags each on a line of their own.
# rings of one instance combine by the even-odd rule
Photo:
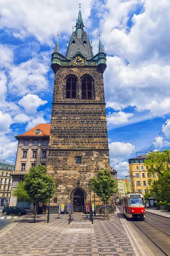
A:
<svg viewBox="0 0 170 256">
<path fill-rule="evenodd" d="M 95 217 L 94 224 L 83 214 L 74 215 L 70 225 L 68 215 L 57 217 L 50 215 L 46 223 L 42 215 L 33 223 L 33 216 L 25 215 L 0 235 L 0 256 L 145 256 L 119 214 L 110 215 L 110 221 Z"/>
</svg>

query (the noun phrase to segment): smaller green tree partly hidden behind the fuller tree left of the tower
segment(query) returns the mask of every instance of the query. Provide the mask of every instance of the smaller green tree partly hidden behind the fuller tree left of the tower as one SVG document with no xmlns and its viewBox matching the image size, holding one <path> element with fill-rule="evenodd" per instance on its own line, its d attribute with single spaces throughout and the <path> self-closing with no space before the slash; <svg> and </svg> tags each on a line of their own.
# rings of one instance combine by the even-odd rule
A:
<svg viewBox="0 0 170 256">
<path fill-rule="evenodd" d="M 29 195 L 26 192 L 25 188 L 25 182 L 19 182 L 18 183 L 18 187 L 16 189 L 14 189 L 14 191 L 12 192 L 12 196 L 17 197 L 17 201 L 18 202 L 30 202 L 29 199 Z"/>
</svg>

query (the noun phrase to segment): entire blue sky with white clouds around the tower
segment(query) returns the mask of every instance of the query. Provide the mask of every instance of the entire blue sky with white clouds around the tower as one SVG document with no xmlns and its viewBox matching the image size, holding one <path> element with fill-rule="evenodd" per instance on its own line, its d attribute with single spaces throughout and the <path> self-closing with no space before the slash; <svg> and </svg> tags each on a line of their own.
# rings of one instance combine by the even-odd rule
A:
<svg viewBox="0 0 170 256">
<path fill-rule="evenodd" d="M 22 134 L 51 120 L 54 74 L 51 53 L 60 52 L 76 24 L 79 1 L 0 1 L 0 159 L 15 160 Z M 147 151 L 170 117 L 168 0 L 82 1 L 82 18 L 104 73 L 111 166 L 120 177 L 127 160 Z M 170 148 L 170 124 L 152 149 Z M 138 153 L 139 154 L 139 153 Z"/>
</svg>

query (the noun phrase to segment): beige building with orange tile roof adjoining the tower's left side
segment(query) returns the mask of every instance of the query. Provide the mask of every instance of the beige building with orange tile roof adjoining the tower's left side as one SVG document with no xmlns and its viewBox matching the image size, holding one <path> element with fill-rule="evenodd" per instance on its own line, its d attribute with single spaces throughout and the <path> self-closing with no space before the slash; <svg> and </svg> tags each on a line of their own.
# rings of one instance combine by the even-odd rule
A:
<svg viewBox="0 0 170 256">
<path fill-rule="evenodd" d="M 15 137 L 18 140 L 15 170 L 12 173 L 11 191 L 24 180 L 31 167 L 41 163 L 47 166 L 50 124 L 39 124 L 24 134 Z M 10 206 L 17 206 L 17 198 L 11 195 Z"/>
</svg>

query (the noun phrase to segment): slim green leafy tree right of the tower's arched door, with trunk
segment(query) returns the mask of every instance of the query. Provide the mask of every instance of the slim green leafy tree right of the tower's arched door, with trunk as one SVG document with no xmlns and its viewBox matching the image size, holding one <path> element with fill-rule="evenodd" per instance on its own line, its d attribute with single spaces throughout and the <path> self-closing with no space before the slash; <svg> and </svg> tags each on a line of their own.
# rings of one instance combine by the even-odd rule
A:
<svg viewBox="0 0 170 256">
<path fill-rule="evenodd" d="M 96 192 L 96 195 L 98 195 L 102 199 L 104 205 L 106 204 L 106 214 L 108 216 L 107 201 L 113 194 L 117 192 L 116 180 L 114 180 L 111 177 L 111 173 L 107 169 L 105 169 L 104 171 L 99 171 L 97 177 L 93 178 L 92 188 Z"/>
</svg>

